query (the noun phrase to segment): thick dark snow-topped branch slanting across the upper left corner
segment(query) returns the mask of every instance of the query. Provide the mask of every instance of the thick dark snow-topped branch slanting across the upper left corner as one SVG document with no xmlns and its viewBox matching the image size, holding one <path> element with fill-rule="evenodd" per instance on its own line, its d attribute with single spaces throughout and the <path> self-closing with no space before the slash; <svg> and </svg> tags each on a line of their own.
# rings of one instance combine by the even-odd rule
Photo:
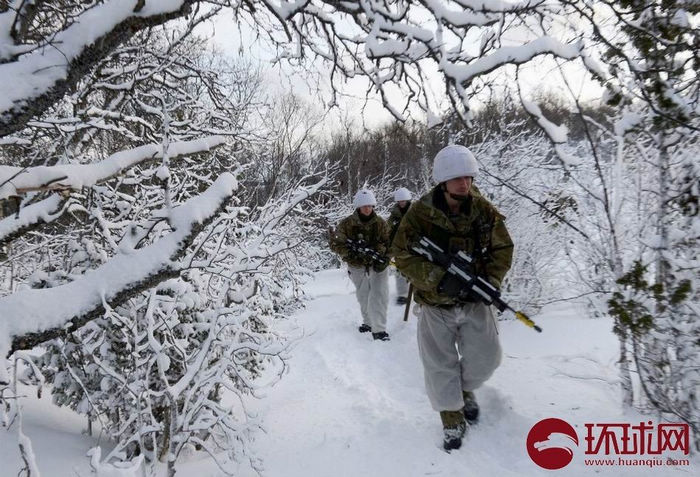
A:
<svg viewBox="0 0 700 477">
<path fill-rule="evenodd" d="M 16 32 L 0 32 L 0 77 L 12 78 L 2 83 L 0 137 L 21 130 L 27 121 L 41 116 L 106 54 L 136 32 L 187 14 L 193 3 L 196 1 L 105 0 L 84 10 L 34 49 L 21 44 L 22 38 L 11 42 L 11 33 Z M 22 12 L 2 13 L 2 25 L 12 25 L 14 15 Z"/>
</svg>

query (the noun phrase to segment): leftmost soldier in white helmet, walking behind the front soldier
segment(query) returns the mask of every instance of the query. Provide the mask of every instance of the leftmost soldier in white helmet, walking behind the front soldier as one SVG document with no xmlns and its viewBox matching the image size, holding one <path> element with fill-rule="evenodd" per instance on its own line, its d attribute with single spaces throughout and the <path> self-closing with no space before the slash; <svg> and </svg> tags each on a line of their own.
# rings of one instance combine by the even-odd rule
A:
<svg viewBox="0 0 700 477">
<path fill-rule="evenodd" d="M 360 333 L 372 332 L 375 340 L 388 341 L 386 312 L 389 299 L 389 228 L 374 212 L 377 201 L 372 191 L 355 194 L 355 212 L 343 219 L 331 235 L 331 250 L 348 266 L 357 290 L 362 324 Z"/>
</svg>

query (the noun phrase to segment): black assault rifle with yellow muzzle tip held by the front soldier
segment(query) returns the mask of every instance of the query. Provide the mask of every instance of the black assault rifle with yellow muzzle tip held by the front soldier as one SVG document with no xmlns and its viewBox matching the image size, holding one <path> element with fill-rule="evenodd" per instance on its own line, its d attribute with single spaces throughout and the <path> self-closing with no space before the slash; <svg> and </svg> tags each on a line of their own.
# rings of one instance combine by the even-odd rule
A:
<svg viewBox="0 0 700 477">
<path fill-rule="evenodd" d="M 448 254 L 437 244 L 423 237 L 418 245 L 413 246 L 413 251 L 430 260 L 432 263 L 443 267 L 447 273 L 459 278 L 466 290 L 472 291 L 479 299 L 487 305 L 493 305 L 500 312 L 510 310 L 515 317 L 526 326 L 541 333 L 542 328 L 537 326 L 525 313 L 513 309 L 508 303 L 501 299 L 501 292 L 482 277 L 477 276 L 471 270 L 474 269 L 474 259 L 466 253 L 460 251 L 456 254 Z"/>
</svg>

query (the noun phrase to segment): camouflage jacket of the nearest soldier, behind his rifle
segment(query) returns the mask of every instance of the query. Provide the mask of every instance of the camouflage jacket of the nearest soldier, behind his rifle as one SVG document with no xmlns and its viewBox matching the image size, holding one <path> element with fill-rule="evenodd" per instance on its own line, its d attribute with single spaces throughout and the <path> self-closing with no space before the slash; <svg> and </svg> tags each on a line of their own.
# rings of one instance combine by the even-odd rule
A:
<svg viewBox="0 0 700 477">
<path fill-rule="evenodd" d="M 414 202 L 399 225 L 391 254 L 396 267 L 413 284 L 416 301 L 427 305 L 455 304 L 454 299 L 437 291 L 445 270 L 411 250 L 421 237 L 450 253 L 465 251 L 476 259 L 476 273 L 500 287 L 513 256 L 513 242 L 504 220 L 474 187 L 457 215 L 449 213 L 439 187 Z"/>
</svg>

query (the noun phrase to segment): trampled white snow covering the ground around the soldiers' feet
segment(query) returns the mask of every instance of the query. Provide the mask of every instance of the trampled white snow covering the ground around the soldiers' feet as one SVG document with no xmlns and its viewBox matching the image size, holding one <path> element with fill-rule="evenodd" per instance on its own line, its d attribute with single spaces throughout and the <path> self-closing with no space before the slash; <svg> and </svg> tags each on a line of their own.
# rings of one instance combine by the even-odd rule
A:
<svg viewBox="0 0 700 477">
<path fill-rule="evenodd" d="M 462 449 L 447 454 L 423 388 L 416 317 L 404 323 L 392 293 L 391 341 L 374 342 L 357 332 L 359 308 L 346 272 L 318 273 L 307 294 L 296 315 L 303 336 L 287 375 L 251 403 L 264 428 L 253 443 L 264 477 L 697 475 L 697 457 L 682 467 L 584 465 L 584 423 L 650 419 L 625 414 L 619 404 L 617 340 L 607 320 L 560 308 L 535 317 L 541 334 L 501 322 L 503 363 L 476 392 L 481 423 Z M 80 434 L 84 418 L 49 403 L 48 396 L 25 400 L 25 433 L 42 475 L 90 475 L 85 452 L 95 441 Z M 579 435 L 573 461 L 557 471 L 536 466 L 525 447 L 530 428 L 548 417 L 564 419 Z M 0 462 L 0 476 L 17 474 L 16 432 L 0 430 Z M 179 466 L 178 475 L 221 474 L 203 459 Z M 237 475 L 258 474 L 242 469 Z"/>
</svg>

